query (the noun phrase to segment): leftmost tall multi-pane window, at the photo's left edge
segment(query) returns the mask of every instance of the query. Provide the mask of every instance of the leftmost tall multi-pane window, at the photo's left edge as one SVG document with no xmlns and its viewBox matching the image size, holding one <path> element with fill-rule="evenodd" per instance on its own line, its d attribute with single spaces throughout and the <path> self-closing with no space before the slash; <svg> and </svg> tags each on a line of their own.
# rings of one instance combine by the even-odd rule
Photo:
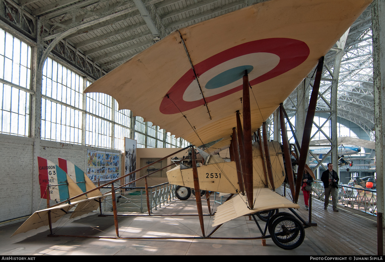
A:
<svg viewBox="0 0 385 262">
<path fill-rule="evenodd" d="M 32 46 L 0 28 L 0 133 L 30 136 Z"/>
</svg>

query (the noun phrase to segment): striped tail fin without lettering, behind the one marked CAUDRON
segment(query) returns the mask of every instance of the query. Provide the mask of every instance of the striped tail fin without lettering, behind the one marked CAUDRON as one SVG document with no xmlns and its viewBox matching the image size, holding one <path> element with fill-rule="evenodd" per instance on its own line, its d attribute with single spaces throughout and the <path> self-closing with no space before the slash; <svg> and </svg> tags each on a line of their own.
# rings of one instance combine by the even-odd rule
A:
<svg viewBox="0 0 385 262">
<path fill-rule="evenodd" d="M 77 182 L 77 185 L 80 187 L 80 189 L 84 192 L 89 191 L 91 189 L 96 188 L 94 183 L 89 179 L 87 174 L 85 174 L 79 167 L 77 167 L 75 164 L 73 164 L 70 161 L 67 161 L 62 158 L 58 158 L 59 160 L 59 167 L 63 169 L 69 177 Z M 78 183 L 80 182 L 80 183 Z M 95 190 L 93 192 L 90 192 L 87 194 L 87 197 L 96 197 L 101 195 L 102 193 L 100 190 Z"/>
</svg>

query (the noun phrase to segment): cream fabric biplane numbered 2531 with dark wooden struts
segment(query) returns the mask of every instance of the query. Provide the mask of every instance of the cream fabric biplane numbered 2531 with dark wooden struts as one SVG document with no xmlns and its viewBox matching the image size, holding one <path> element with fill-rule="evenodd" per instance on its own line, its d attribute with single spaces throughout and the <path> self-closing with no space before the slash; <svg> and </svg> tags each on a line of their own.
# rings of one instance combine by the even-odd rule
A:
<svg viewBox="0 0 385 262">
<path fill-rule="evenodd" d="M 111 95 L 119 109 L 129 109 L 192 144 L 191 166 L 181 164 L 169 170 L 167 178 L 195 192 L 234 194 L 216 210 L 213 232 L 243 215 L 298 209 L 299 185 L 294 185 L 291 165 L 286 168 L 294 201 L 275 192 L 285 179 L 282 155 L 291 157 L 282 103 L 316 66 L 299 149 L 300 182 L 310 142 L 306 127 L 313 122 L 323 56 L 371 2 L 271 0 L 251 5 L 175 30 L 92 83 L 84 93 Z M 265 123 L 278 107 L 283 150 L 278 142 L 268 141 Z M 197 167 L 194 145 L 219 139 L 203 147 L 208 154 Z M 215 155 L 224 149 L 231 152 L 230 162 Z M 201 238 L 209 238 L 213 232 L 205 236 L 201 197 L 195 195 Z M 290 215 L 271 218 L 266 223 L 270 235 L 266 228 L 260 229 L 262 236 L 254 239 L 271 236 L 281 248 L 293 249 L 305 237 L 303 222 Z"/>
</svg>

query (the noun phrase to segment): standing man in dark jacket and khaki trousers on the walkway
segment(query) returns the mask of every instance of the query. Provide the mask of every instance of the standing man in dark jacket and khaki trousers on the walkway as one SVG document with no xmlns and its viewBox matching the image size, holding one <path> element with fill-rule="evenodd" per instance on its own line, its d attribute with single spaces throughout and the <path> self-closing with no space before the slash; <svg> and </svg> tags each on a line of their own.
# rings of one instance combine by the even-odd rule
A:
<svg viewBox="0 0 385 262">
<path fill-rule="evenodd" d="M 331 194 L 331 204 L 333 204 L 333 211 L 338 212 L 337 209 L 337 199 L 338 199 L 338 174 L 333 170 L 333 164 L 328 163 L 328 170 L 322 173 L 321 181 L 323 182 L 323 187 L 325 187 L 325 207 L 323 209 L 328 209 L 329 197 Z"/>
</svg>

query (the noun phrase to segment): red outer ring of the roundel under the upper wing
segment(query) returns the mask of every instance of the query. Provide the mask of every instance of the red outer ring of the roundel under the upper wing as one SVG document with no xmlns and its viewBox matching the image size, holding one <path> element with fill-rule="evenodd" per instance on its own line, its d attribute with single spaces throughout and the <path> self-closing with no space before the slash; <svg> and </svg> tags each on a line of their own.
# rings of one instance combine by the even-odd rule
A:
<svg viewBox="0 0 385 262">
<path fill-rule="evenodd" d="M 251 80 L 250 85 L 252 86 L 274 78 L 297 67 L 303 63 L 306 58 L 308 58 L 310 50 L 306 43 L 300 40 L 291 38 L 266 38 L 243 43 L 241 45 L 237 45 L 235 47 L 224 50 L 223 52 L 217 53 L 216 55 L 213 55 L 212 57 L 209 57 L 206 60 L 196 64 L 194 68 L 197 76 L 199 77 L 199 75 L 203 74 L 207 70 L 230 59 L 240 57 L 242 55 L 247 55 L 249 53 L 258 52 L 273 53 L 278 55 L 280 57 L 280 62 L 269 72 Z M 186 102 L 183 100 L 184 92 L 191 84 L 191 82 L 194 81 L 194 79 L 195 76 L 192 69 L 188 70 L 181 78 L 179 78 L 179 80 L 167 92 L 167 95 L 169 95 L 171 99 L 165 96 L 161 102 L 159 111 L 165 115 L 170 115 L 180 113 L 179 110 L 184 112 L 192 108 L 199 107 L 200 105 L 204 105 L 203 98 L 201 100 L 192 102 Z M 211 97 L 206 97 L 206 102 L 209 103 L 219 98 L 226 97 L 227 95 L 242 90 L 242 88 L 242 85 L 239 85 L 238 87 L 234 87 L 233 89 L 227 90 L 223 93 L 219 93 Z"/>
</svg>

